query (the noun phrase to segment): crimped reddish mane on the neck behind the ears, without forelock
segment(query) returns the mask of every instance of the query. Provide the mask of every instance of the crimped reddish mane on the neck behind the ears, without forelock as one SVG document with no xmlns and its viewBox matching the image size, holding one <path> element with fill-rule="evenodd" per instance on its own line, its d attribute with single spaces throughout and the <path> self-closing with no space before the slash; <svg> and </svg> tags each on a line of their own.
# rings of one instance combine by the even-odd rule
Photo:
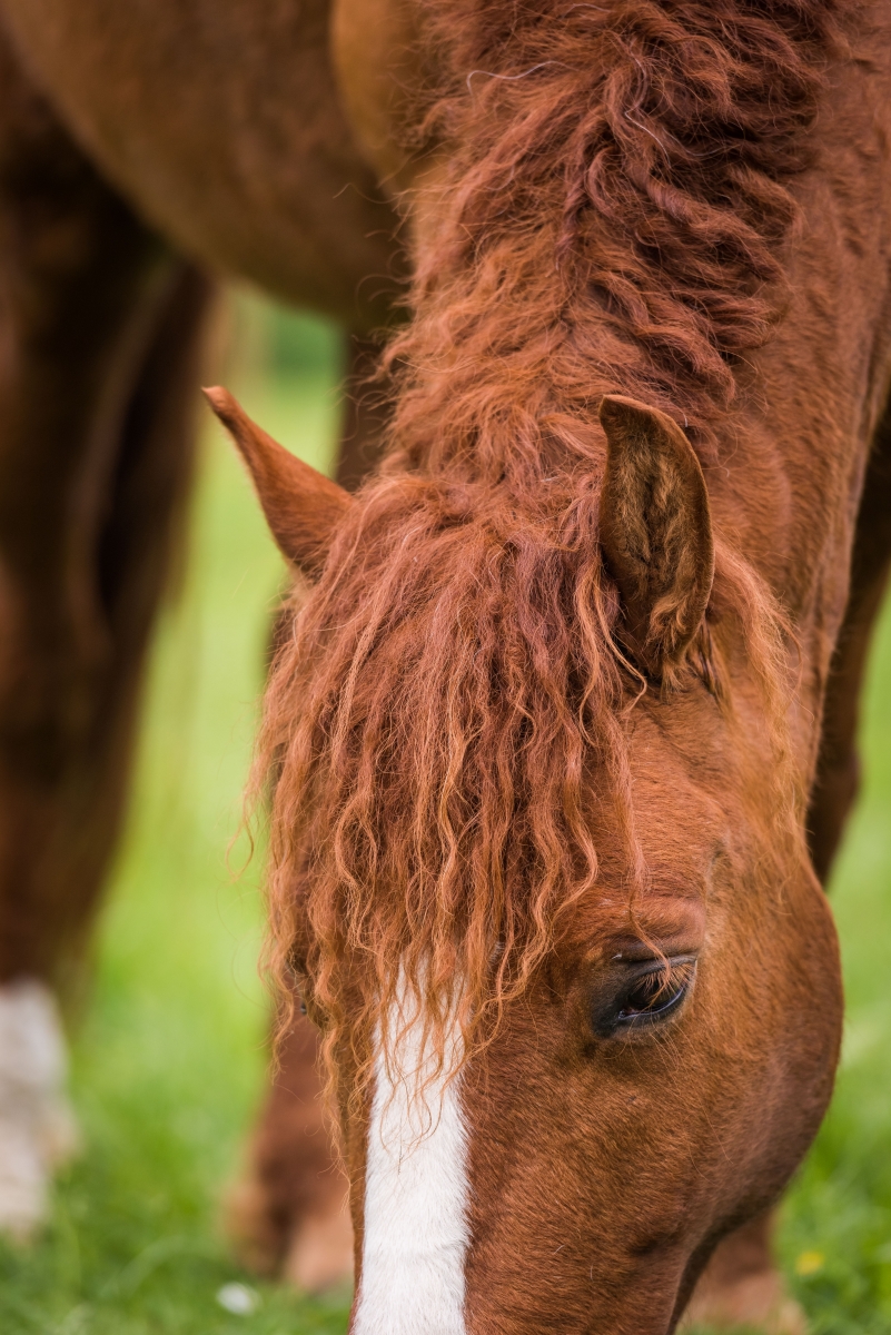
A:
<svg viewBox="0 0 891 1335">
<path fill-rule="evenodd" d="M 592 372 L 702 445 L 786 304 L 787 186 L 812 156 L 835 5 L 419 12 L 447 91 L 424 142 L 447 166 L 415 320 L 391 348 L 412 368 L 400 447 L 472 449 L 480 469 L 547 459 L 544 423 L 590 418 Z"/>
</svg>

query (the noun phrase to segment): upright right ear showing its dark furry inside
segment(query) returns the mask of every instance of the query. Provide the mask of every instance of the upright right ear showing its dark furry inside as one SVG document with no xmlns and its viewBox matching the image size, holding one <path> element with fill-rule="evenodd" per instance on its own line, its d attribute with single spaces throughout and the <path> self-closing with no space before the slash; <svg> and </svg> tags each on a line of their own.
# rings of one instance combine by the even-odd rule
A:
<svg viewBox="0 0 891 1335">
<path fill-rule="evenodd" d="M 607 469 L 600 543 L 624 614 L 623 639 L 660 678 L 702 626 L 715 574 L 708 493 L 676 422 L 635 399 L 600 403 Z"/>
</svg>

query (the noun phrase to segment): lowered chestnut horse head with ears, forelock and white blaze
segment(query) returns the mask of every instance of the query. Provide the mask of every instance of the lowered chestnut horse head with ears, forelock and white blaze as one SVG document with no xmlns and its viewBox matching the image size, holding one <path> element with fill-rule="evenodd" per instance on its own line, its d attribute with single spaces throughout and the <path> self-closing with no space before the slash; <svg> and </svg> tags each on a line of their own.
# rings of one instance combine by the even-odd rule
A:
<svg viewBox="0 0 891 1335">
<path fill-rule="evenodd" d="M 634 399 L 603 398 L 588 477 L 395 467 L 355 499 L 221 406 L 315 581 L 264 754 L 352 1330 L 664 1335 L 800 1161 L 838 1055 L 782 615 Z"/>
</svg>

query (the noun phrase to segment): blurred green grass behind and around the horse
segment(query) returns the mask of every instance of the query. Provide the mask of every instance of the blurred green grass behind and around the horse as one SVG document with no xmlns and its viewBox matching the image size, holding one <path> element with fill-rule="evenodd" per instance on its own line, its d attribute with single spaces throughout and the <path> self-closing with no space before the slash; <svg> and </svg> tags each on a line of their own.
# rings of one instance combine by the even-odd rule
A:
<svg viewBox="0 0 891 1335">
<path fill-rule="evenodd" d="M 232 311 L 232 388 L 267 430 L 329 467 L 336 331 L 255 298 L 235 299 Z M 85 1148 L 59 1181 L 43 1240 L 24 1252 L 0 1247 L 3 1335 L 345 1330 L 344 1299 L 303 1300 L 240 1272 L 219 1224 L 267 1064 L 256 972 L 263 858 L 236 876 L 247 861 L 236 836 L 283 567 L 223 433 L 209 414 L 203 422 L 184 586 L 155 643 L 129 828 L 75 1044 Z M 844 1056 L 780 1234 L 791 1287 L 827 1335 L 891 1335 L 887 610 L 863 733 L 866 788 L 832 886 Z M 249 1287 L 253 1311 L 220 1304 L 232 1283 Z"/>
</svg>

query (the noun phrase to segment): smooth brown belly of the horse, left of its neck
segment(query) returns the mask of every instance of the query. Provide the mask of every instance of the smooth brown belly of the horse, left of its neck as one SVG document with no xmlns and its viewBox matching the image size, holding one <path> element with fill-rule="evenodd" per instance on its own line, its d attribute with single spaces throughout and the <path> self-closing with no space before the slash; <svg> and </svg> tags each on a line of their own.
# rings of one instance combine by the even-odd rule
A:
<svg viewBox="0 0 891 1335">
<path fill-rule="evenodd" d="M 179 248 L 353 328 L 380 323 L 396 220 L 340 111 L 327 0 L 0 12 L 69 129 Z"/>
</svg>

